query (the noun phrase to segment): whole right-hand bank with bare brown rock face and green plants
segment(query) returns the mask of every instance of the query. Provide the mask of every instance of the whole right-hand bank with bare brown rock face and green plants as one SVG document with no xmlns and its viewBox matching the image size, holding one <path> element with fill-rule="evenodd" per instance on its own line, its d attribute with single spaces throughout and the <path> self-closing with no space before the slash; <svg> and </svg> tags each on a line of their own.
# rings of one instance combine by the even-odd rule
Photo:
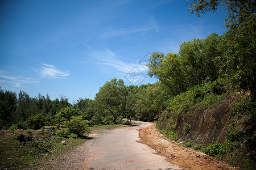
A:
<svg viewBox="0 0 256 170">
<path fill-rule="evenodd" d="M 171 99 L 156 128 L 234 167 L 255 169 L 255 102 L 249 96 L 225 79 L 203 83 Z"/>
</svg>

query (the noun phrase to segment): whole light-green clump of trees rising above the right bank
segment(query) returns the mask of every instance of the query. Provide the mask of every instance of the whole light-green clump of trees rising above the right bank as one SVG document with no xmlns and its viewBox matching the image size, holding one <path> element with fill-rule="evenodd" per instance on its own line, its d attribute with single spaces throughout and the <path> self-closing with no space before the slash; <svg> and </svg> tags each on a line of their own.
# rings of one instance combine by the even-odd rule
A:
<svg viewBox="0 0 256 170">
<path fill-rule="evenodd" d="M 216 33 L 206 39 L 185 41 L 178 54 L 152 53 L 147 64 L 148 75 L 158 78 L 175 96 L 204 80 L 216 80 L 220 75 L 216 58 L 224 52 L 223 37 Z"/>
</svg>

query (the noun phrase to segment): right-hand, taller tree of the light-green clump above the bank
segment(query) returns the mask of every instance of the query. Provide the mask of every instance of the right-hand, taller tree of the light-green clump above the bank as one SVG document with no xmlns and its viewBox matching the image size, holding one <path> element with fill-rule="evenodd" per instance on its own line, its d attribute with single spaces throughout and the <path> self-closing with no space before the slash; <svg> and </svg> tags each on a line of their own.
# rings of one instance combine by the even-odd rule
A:
<svg viewBox="0 0 256 170">
<path fill-rule="evenodd" d="M 206 39 L 183 42 L 179 48 L 179 58 L 181 70 L 185 71 L 185 77 L 189 79 L 187 82 L 194 86 L 206 79 L 216 80 L 219 77 L 220 65 L 215 61 L 224 52 L 223 37 L 217 33 L 212 33 Z"/>
</svg>

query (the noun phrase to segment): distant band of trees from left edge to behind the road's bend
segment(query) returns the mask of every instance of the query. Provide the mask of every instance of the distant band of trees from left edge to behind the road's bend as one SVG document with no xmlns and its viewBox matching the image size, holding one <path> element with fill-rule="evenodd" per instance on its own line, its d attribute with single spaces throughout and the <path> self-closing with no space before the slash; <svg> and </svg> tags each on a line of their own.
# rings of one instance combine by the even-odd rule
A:
<svg viewBox="0 0 256 170">
<path fill-rule="evenodd" d="M 141 86 L 125 86 L 122 79 L 112 79 L 102 86 L 94 100 L 79 99 L 72 105 L 68 98 L 50 100 L 39 93 L 30 97 L 26 92 L 0 89 L 1 126 L 25 122 L 31 117 L 44 117 L 46 124 L 60 124 L 72 116 L 82 116 L 90 125 L 118 124 L 123 117 L 155 121 L 165 107 L 168 89 L 160 82 Z M 44 124 L 43 124 L 44 125 Z M 22 128 L 22 127 L 20 127 Z"/>
</svg>

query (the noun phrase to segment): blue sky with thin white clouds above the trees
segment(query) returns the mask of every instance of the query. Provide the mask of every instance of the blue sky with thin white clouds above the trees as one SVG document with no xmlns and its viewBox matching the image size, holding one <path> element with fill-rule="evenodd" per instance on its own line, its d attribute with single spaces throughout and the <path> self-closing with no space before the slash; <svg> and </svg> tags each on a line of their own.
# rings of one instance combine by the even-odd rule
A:
<svg viewBox="0 0 256 170">
<path fill-rule="evenodd" d="M 0 2 L 0 87 L 51 100 L 93 99 L 112 78 L 155 83 L 144 63 L 152 52 L 176 53 L 181 42 L 226 31 L 222 8 L 197 18 L 187 2 Z"/>
</svg>

